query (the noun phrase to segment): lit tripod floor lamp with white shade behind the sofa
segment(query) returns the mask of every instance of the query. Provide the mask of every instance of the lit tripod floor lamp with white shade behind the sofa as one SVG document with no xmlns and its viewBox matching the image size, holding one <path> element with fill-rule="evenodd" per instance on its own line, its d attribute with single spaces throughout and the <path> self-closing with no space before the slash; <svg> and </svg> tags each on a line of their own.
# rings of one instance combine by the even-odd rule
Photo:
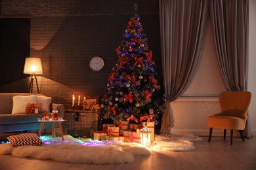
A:
<svg viewBox="0 0 256 170">
<path fill-rule="evenodd" d="M 37 85 L 37 93 L 39 93 L 37 76 L 36 74 L 43 74 L 43 68 L 41 63 L 41 58 L 26 58 L 24 65 L 24 74 L 32 74 L 30 79 L 30 93 L 33 93 L 33 80 Z"/>
</svg>

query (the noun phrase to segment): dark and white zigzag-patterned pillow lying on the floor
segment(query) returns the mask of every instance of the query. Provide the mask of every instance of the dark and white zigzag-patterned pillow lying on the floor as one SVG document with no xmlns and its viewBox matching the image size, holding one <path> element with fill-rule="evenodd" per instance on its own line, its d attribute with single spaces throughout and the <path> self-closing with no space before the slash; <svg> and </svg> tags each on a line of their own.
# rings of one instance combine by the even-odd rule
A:
<svg viewBox="0 0 256 170">
<path fill-rule="evenodd" d="M 12 146 L 23 146 L 23 145 L 33 145 L 39 146 L 43 143 L 40 137 L 35 133 L 22 133 L 20 135 L 12 135 L 7 137 L 8 141 Z"/>
</svg>

